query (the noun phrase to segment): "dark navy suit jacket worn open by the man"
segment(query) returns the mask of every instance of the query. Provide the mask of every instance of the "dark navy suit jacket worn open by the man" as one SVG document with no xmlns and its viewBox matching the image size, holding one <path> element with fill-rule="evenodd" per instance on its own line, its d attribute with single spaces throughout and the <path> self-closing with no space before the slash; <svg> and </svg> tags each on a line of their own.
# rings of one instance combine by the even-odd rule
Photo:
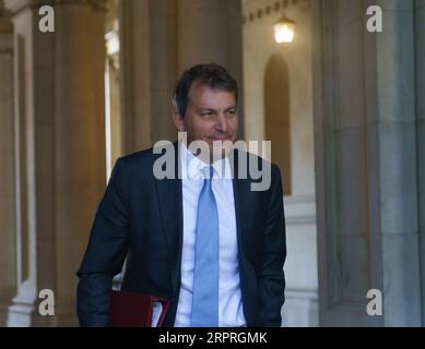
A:
<svg viewBox="0 0 425 349">
<path fill-rule="evenodd" d="M 177 143 L 174 144 L 177 167 Z M 121 289 L 170 299 L 165 326 L 173 326 L 180 291 L 182 249 L 181 180 L 157 180 L 152 149 L 119 158 L 98 206 L 88 245 L 78 270 L 81 326 L 107 326 L 113 277 L 126 270 Z M 271 185 L 251 191 L 253 180 L 237 179 L 234 196 L 244 314 L 248 326 L 280 326 L 286 256 L 282 183 L 271 166 Z M 240 155 L 239 155 L 240 156 Z M 249 161 L 261 158 L 249 155 Z M 233 161 L 231 161 L 233 164 Z"/>
</svg>

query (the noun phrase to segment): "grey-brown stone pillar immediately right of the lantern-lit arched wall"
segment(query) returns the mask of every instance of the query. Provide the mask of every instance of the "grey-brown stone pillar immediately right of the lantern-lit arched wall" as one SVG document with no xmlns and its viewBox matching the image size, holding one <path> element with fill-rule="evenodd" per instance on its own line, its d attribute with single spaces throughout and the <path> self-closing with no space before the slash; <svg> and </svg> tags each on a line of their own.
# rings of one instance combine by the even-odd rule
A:
<svg viewBox="0 0 425 349">
<path fill-rule="evenodd" d="M 366 9 L 361 1 L 311 4 L 319 322 L 379 326 L 382 318 L 366 313 L 367 291 L 381 289 L 379 228 L 369 219 L 379 207 L 369 205 L 376 184 L 368 174 L 367 97 L 374 95 L 365 89 L 376 73 L 366 64 Z"/>
</svg>

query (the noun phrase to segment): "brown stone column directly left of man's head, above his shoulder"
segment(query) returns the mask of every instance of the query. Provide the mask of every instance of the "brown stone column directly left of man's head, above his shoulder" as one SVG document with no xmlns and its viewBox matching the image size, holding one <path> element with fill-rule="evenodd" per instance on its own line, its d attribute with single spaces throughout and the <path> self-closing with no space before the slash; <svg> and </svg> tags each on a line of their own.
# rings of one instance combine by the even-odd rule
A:
<svg viewBox="0 0 425 349">
<path fill-rule="evenodd" d="M 119 3 L 122 145 L 128 154 L 175 140 L 176 0 Z"/>
</svg>

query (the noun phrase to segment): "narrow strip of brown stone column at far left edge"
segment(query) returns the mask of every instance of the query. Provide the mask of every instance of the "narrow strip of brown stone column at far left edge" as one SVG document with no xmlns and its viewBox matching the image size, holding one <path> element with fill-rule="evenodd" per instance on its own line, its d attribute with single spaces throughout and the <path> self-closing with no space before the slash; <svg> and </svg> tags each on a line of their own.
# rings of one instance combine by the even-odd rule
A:
<svg viewBox="0 0 425 349">
<path fill-rule="evenodd" d="M 12 31 L 0 2 L 0 327 L 16 291 Z"/>
</svg>

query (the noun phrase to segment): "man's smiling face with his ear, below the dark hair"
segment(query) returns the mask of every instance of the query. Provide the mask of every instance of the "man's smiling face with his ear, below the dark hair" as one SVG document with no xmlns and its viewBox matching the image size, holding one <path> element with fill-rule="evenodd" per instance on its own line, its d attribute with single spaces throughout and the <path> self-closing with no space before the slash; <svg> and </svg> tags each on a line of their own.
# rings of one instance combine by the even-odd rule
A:
<svg viewBox="0 0 425 349">
<path fill-rule="evenodd" d="M 193 141 L 204 141 L 213 160 L 224 157 L 228 154 L 229 142 L 237 136 L 239 122 L 235 94 L 194 82 L 189 91 L 185 117 L 176 112 L 174 121 L 178 131 L 187 132 L 188 145 Z M 223 143 L 225 141 L 227 144 Z"/>
</svg>

